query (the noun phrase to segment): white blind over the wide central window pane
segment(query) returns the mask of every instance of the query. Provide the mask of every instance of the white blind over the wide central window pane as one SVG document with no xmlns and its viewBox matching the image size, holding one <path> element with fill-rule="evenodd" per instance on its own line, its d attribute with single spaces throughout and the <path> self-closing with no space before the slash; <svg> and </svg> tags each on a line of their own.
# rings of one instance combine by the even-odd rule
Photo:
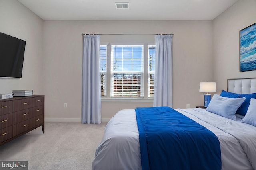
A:
<svg viewBox="0 0 256 170">
<path fill-rule="evenodd" d="M 143 97 L 143 45 L 111 45 L 111 97 Z"/>
</svg>

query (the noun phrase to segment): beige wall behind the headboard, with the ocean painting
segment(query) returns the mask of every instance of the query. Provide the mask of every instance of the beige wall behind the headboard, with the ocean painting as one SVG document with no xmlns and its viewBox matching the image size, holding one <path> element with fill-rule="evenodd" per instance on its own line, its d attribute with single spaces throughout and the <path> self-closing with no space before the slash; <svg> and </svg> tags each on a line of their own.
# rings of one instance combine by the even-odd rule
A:
<svg viewBox="0 0 256 170">
<path fill-rule="evenodd" d="M 239 31 L 253 23 L 256 0 L 239 0 L 213 20 L 213 72 L 218 93 L 227 90 L 228 78 L 256 77 L 256 71 L 239 72 Z"/>
</svg>

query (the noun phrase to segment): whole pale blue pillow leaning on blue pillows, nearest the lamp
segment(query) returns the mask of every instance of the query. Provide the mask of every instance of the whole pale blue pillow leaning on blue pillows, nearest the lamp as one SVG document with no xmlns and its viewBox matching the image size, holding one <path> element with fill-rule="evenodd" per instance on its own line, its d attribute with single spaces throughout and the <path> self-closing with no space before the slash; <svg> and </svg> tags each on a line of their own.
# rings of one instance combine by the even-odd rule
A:
<svg viewBox="0 0 256 170">
<path fill-rule="evenodd" d="M 210 111 L 222 117 L 236 120 L 236 111 L 246 98 L 227 98 L 214 94 L 206 111 Z"/>
</svg>

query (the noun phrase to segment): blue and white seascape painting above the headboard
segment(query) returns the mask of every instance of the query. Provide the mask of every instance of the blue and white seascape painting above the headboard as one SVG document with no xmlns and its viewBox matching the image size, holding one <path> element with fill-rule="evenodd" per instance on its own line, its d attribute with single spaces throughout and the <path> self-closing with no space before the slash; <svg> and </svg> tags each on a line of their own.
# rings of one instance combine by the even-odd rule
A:
<svg viewBox="0 0 256 170">
<path fill-rule="evenodd" d="M 240 72 L 256 70 L 256 23 L 240 31 Z"/>
</svg>

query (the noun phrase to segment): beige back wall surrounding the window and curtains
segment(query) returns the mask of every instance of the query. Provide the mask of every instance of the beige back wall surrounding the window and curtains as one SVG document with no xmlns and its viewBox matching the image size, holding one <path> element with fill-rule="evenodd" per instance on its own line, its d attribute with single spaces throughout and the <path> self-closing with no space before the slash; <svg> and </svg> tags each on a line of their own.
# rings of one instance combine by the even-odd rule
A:
<svg viewBox="0 0 256 170">
<path fill-rule="evenodd" d="M 212 81 L 212 21 L 44 21 L 44 94 L 47 118 L 81 117 L 82 33 L 174 33 L 173 107 L 203 104 L 200 81 Z M 154 42 L 154 35 L 102 35 L 101 42 Z M 126 40 L 125 40 L 126 41 Z M 64 102 L 68 108 L 64 108 Z M 152 102 L 102 102 L 102 118 Z"/>
</svg>

